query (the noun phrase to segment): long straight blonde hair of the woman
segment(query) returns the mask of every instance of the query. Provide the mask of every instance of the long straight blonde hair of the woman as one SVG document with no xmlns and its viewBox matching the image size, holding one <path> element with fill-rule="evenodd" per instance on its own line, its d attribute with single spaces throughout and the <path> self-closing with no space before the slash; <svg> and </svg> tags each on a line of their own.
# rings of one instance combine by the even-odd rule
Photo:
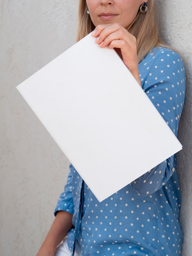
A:
<svg viewBox="0 0 192 256">
<path fill-rule="evenodd" d="M 85 0 L 79 1 L 77 40 L 87 36 L 95 28 L 87 14 Z M 159 37 L 159 25 L 155 0 L 148 0 L 147 11 L 138 14 L 128 28 L 129 33 L 136 37 L 138 62 L 155 46 L 167 47 Z"/>
</svg>

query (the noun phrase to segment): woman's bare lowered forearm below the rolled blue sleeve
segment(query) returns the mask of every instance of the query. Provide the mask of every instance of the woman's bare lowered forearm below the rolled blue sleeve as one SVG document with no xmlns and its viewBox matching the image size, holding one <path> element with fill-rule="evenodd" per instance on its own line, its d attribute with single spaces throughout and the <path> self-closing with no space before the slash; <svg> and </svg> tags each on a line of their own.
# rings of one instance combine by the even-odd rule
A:
<svg viewBox="0 0 192 256">
<path fill-rule="evenodd" d="M 73 215 L 71 213 L 58 211 L 56 218 L 36 256 L 54 256 L 57 246 L 65 236 L 67 236 L 67 233 L 73 226 L 72 217 Z"/>
</svg>

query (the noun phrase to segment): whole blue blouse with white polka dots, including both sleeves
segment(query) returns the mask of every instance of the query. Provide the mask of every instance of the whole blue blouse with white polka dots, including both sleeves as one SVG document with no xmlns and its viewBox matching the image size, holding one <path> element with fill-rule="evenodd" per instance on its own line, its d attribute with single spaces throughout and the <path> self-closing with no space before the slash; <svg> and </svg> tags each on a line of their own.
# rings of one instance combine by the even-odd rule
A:
<svg viewBox="0 0 192 256">
<path fill-rule="evenodd" d="M 139 63 L 139 73 L 143 90 L 177 135 L 185 98 L 181 57 L 170 49 L 154 48 Z M 74 228 L 67 235 L 71 255 L 76 240 L 82 256 L 181 255 L 181 202 L 175 155 L 103 202 L 98 202 L 75 168 L 69 168 L 55 214 L 73 214 Z"/>
</svg>

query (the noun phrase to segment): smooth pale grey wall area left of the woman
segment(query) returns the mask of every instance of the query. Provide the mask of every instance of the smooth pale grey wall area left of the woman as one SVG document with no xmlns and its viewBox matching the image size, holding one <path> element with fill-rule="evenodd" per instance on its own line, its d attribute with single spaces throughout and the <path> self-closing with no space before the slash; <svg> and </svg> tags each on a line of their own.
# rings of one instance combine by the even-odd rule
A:
<svg viewBox="0 0 192 256">
<path fill-rule="evenodd" d="M 16 86 L 76 41 L 77 0 L 0 1 L 0 256 L 35 255 L 69 162 Z"/>
</svg>

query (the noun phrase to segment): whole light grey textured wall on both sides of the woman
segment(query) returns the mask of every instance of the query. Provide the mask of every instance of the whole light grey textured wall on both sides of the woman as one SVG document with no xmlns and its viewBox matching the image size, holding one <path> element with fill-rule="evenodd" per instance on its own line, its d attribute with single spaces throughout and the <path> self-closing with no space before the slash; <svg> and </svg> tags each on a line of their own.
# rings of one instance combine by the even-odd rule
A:
<svg viewBox="0 0 192 256">
<path fill-rule="evenodd" d="M 77 0 L 0 1 L 0 255 L 35 255 L 63 190 L 68 160 L 16 85 L 75 42 Z M 161 33 L 185 60 L 188 88 L 181 118 L 179 176 L 183 256 L 192 252 L 192 1 L 158 0 Z M 183 4 L 182 4 L 183 2 Z"/>
</svg>

